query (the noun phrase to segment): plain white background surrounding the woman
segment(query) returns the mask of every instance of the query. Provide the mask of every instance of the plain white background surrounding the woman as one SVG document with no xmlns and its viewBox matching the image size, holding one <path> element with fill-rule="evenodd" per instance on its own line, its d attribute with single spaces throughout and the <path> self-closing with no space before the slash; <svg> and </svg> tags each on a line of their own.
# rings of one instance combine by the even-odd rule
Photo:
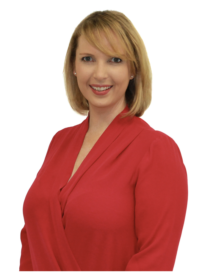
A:
<svg viewBox="0 0 210 273">
<path fill-rule="evenodd" d="M 174 272 L 207 272 L 209 259 L 208 1 L 4 1 L 1 26 L 1 269 L 19 270 L 23 201 L 54 134 L 86 117 L 70 108 L 63 65 L 70 37 L 96 10 L 123 12 L 153 73 L 142 118 L 178 144 L 189 198 Z"/>
</svg>

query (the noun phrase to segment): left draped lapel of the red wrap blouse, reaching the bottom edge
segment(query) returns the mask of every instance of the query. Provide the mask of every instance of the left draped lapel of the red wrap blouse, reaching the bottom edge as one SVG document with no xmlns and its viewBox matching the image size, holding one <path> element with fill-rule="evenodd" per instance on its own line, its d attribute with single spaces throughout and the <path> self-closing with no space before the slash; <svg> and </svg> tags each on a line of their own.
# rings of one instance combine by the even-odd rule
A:
<svg viewBox="0 0 210 273">
<path fill-rule="evenodd" d="M 81 271 L 65 235 L 65 230 L 62 224 L 61 204 L 59 202 L 60 190 L 67 183 L 70 172 L 73 170 L 76 157 L 84 140 L 84 136 L 88 130 L 89 116 L 80 124 L 73 139 L 72 136 L 66 137 L 65 149 L 57 152 L 57 158 L 63 156 L 61 167 L 57 172 L 49 196 L 49 205 L 51 211 L 51 221 L 54 230 L 55 238 L 53 244 L 53 252 L 57 261 L 59 261 L 60 271 Z M 61 155 L 60 155 L 61 154 Z M 59 155 L 59 156 L 58 156 Z"/>
</svg>

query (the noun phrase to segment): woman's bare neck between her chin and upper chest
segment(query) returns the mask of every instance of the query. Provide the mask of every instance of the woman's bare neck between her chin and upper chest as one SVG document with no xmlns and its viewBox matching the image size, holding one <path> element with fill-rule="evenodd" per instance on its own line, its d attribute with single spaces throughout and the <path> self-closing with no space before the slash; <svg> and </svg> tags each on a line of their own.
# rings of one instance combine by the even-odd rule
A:
<svg viewBox="0 0 210 273">
<path fill-rule="evenodd" d="M 123 100 L 118 104 L 96 107 L 89 104 L 89 128 L 88 134 L 101 134 L 104 132 L 114 118 L 120 114 L 126 107 L 126 101 Z"/>
</svg>

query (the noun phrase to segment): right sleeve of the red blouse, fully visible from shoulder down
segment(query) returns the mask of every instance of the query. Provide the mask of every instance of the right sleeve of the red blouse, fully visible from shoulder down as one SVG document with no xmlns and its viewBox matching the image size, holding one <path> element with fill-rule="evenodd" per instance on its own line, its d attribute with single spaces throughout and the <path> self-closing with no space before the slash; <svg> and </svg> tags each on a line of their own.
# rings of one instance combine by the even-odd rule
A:
<svg viewBox="0 0 210 273">
<path fill-rule="evenodd" d="M 187 209 L 187 172 L 180 150 L 161 133 L 138 168 L 135 231 L 139 252 L 125 271 L 173 271 Z"/>
</svg>

